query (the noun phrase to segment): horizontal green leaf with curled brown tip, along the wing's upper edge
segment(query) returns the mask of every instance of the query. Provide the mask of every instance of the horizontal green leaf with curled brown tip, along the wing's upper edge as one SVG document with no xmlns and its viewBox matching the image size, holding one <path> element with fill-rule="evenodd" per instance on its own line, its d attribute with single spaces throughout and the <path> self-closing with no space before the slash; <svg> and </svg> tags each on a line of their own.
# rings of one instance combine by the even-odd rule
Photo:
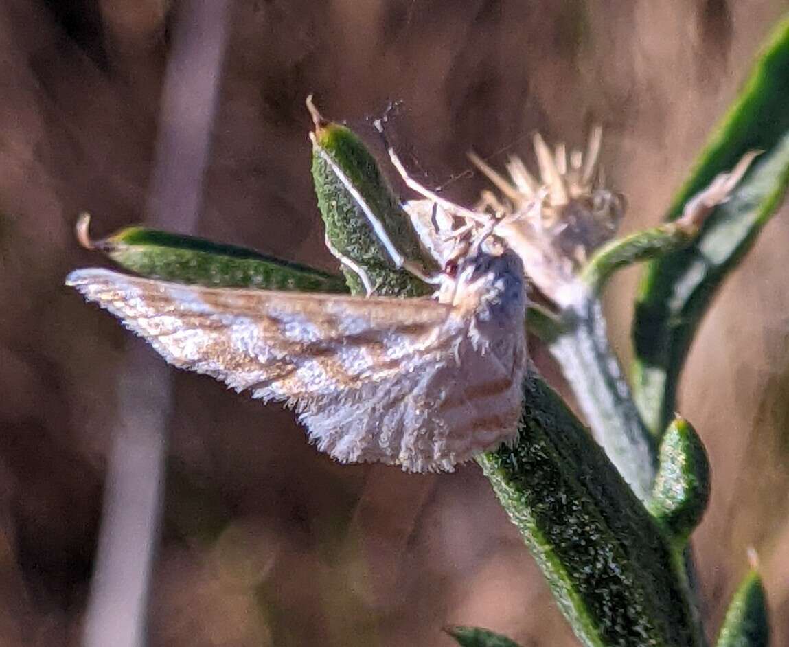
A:
<svg viewBox="0 0 789 647">
<path fill-rule="evenodd" d="M 125 269 L 151 279 L 210 287 L 348 291 L 341 276 L 203 238 L 134 226 L 92 241 L 88 237 L 87 216 L 80 219 L 77 232 L 88 249 L 98 249 Z"/>
</svg>

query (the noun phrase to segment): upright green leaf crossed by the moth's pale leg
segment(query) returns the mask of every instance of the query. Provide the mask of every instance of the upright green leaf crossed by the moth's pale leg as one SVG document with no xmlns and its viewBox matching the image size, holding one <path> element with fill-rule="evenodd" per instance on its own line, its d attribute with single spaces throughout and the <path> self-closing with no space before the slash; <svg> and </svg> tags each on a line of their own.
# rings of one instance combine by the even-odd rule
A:
<svg viewBox="0 0 789 647">
<path fill-rule="evenodd" d="M 326 122 L 315 112 L 313 118 L 316 128 L 312 137 L 312 179 L 328 241 L 337 252 L 361 267 L 376 294 L 404 297 L 431 294 L 430 286 L 409 271 L 396 267 L 391 251 L 384 244 L 385 236 L 406 260 L 420 264 L 426 271 L 436 269 L 429 259 L 422 256 L 419 239 L 408 215 L 383 180 L 376 160 L 350 129 Z M 350 193 L 339 174 L 350 181 L 357 196 Z M 372 211 L 383 232 L 375 231 L 360 198 Z M 343 271 L 351 290 L 363 292 L 358 273 L 349 267 Z"/>
</svg>

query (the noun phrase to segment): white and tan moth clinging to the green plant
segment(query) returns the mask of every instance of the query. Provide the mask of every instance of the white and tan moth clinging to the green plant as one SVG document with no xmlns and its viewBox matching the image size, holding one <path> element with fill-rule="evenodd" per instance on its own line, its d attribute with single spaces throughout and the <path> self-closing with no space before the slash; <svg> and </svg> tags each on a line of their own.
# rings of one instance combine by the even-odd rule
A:
<svg viewBox="0 0 789 647">
<path fill-rule="evenodd" d="M 453 260 L 429 298 L 208 288 L 101 268 L 66 279 L 171 365 L 293 406 L 341 462 L 451 471 L 512 442 L 526 367 L 522 260 Z"/>
</svg>

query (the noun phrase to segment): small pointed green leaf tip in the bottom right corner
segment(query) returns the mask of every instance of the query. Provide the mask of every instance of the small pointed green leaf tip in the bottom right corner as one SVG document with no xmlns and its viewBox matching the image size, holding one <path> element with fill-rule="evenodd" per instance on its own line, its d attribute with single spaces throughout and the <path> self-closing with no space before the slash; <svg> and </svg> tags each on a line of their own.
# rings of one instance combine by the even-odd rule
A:
<svg viewBox="0 0 789 647">
<path fill-rule="evenodd" d="M 731 599 L 716 647 L 768 647 L 770 624 L 761 575 L 751 570 Z"/>
</svg>

